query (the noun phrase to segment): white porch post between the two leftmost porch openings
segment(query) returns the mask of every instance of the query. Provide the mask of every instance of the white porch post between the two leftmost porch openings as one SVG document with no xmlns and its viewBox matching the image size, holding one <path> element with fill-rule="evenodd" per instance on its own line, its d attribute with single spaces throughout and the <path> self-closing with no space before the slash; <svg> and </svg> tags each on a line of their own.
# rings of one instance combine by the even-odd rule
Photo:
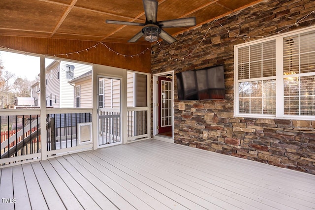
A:
<svg viewBox="0 0 315 210">
<path fill-rule="evenodd" d="M 40 148 L 41 160 L 47 159 L 45 56 L 40 56 Z"/>
</svg>

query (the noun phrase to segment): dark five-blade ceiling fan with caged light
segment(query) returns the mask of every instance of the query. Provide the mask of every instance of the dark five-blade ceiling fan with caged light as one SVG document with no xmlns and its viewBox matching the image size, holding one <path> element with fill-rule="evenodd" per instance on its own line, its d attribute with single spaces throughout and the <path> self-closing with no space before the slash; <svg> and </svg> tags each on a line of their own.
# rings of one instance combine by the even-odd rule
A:
<svg viewBox="0 0 315 210">
<path fill-rule="evenodd" d="M 134 35 L 128 42 L 136 42 L 142 36 L 149 42 L 158 41 L 158 37 L 163 39 L 169 44 L 172 44 L 176 39 L 167 33 L 163 28 L 175 28 L 175 27 L 190 27 L 196 25 L 196 18 L 179 18 L 174 20 L 157 21 L 158 15 L 158 0 L 142 0 L 144 13 L 146 15 L 145 23 L 136 23 L 128 21 L 116 21 L 116 20 L 106 20 L 109 24 L 122 24 L 131 26 L 142 26 L 136 35 Z"/>
</svg>

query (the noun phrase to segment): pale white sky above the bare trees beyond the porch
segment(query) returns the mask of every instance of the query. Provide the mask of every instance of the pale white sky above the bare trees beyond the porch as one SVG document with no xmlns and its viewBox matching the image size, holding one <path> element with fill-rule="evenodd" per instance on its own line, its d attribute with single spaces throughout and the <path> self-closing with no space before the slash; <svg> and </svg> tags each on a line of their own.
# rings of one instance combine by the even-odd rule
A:
<svg viewBox="0 0 315 210">
<path fill-rule="evenodd" d="M 32 81 L 39 74 L 39 57 L 0 51 L 0 59 L 2 60 L 4 71 L 14 73 L 16 77 L 27 78 Z M 52 61 L 52 59 L 46 59 L 46 66 Z"/>
</svg>

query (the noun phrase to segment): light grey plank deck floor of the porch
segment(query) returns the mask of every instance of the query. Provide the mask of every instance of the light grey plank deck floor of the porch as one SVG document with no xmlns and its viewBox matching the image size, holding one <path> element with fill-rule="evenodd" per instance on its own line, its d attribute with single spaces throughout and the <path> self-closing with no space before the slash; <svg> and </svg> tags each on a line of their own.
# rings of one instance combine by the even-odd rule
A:
<svg viewBox="0 0 315 210">
<path fill-rule="evenodd" d="M 315 209 L 313 175 L 157 140 L 0 173 L 0 210 Z"/>
</svg>

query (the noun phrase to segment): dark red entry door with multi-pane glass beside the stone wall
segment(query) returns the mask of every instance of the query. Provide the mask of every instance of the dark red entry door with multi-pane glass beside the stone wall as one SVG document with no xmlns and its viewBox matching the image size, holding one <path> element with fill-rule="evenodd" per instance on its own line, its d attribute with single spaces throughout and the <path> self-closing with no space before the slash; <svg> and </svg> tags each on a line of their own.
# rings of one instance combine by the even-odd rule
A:
<svg viewBox="0 0 315 210">
<path fill-rule="evenodd" d="M 158 134 L 172 133 L 172 79 L 158 77 Z"/>
</svg>

